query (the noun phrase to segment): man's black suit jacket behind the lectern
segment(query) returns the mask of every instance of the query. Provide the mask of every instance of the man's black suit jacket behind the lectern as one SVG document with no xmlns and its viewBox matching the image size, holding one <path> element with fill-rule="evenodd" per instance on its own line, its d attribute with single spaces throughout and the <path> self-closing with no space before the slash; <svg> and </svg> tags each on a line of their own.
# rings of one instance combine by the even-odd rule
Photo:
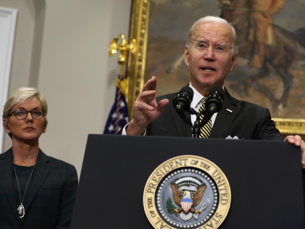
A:
<svg viewBox="0 0 305 229">
<path fill-rule="evenodd" d="M 146 135 L 192 137 L 192 129 L 178 115 L 173 99 L 178 93 L 167 94 L 157 101 L 170 100 L 162 115 L 146 127 Z M 232 112 L 228 111 L 231 110 Z M 210 138 L 237 136 L 239 139 L 283 140 L 268 109 L 233 98 L 225 89 L 224 102 L 214 122 Z"/>
</svg>

